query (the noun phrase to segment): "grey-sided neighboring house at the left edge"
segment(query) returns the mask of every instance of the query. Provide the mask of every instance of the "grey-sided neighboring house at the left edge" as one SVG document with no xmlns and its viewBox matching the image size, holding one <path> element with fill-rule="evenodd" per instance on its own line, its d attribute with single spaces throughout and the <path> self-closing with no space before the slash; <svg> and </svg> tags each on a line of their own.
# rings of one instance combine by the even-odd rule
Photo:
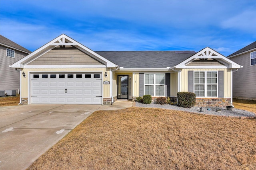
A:
<svg viewBox="0 0 256 170">
<path fill-rule="evenodd" d="M 20 71 L 9 65 L 30 54 L 31 51 L 0 35 L 0 90 L 20 89 Z M 2 96 L 2 93 L 1 93 Z"/>
</svg>

